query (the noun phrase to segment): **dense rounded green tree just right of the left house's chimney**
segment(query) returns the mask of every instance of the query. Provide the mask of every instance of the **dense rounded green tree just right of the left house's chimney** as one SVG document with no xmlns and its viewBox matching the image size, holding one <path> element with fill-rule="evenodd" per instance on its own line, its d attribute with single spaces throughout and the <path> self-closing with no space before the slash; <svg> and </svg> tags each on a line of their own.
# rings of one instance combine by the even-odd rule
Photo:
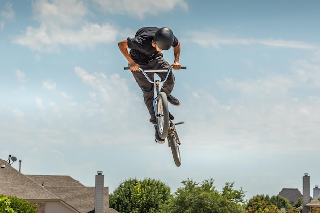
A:
<svg viewBox="0 0 320 213">
<path fill-rule="evenodd" d="M 110 194 L 109 201 L 110 207 L 121 213 L 154 213 L 170 196 L 170 187 L 165 183 L 135 178 L 120 183 Z"/>
</svg>

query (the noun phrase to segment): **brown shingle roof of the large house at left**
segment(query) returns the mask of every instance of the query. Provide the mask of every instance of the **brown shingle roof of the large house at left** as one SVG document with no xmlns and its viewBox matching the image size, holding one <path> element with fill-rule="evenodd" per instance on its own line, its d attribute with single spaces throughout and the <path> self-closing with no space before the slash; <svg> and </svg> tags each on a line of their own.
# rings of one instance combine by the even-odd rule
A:
<svg viewBox="0 0 320 213">
<path fill-rule="evenodd" d="M 26 200 L 62 200 L 80 213 L 94 212 L 95 187 L 86 187 L 70 176 L 24 175 L 0 159 L 0 194 Z M 42 186 L 43 185 L 43 186 Z M 118 213 L 109 208 L 109 188 L 104 187 L 104 213 Z"/>
</svg>

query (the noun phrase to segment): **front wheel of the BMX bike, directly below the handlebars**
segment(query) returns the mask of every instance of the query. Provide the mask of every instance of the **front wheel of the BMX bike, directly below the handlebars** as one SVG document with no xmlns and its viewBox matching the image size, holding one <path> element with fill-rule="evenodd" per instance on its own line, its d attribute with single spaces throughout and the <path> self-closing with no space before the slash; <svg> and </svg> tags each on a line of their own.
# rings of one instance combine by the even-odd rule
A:
<svg viewBox="0 0 320 213">
<path fill-rule="evenodd" d="M 169 109 L 166 93 L 160 92 L 158 94 L 156 108 L 158 111 L 156 115 L 158 134 L 161 139 L 166 139 L 169 131 Z"/>
</svg>

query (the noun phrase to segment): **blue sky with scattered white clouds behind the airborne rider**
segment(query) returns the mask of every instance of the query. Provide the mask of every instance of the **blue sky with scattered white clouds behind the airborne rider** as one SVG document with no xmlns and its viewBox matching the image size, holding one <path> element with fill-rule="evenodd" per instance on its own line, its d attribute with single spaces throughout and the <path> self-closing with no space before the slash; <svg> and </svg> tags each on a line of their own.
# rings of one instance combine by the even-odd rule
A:
<svg viewBox="0 0 320 213">
<path fill-rule="evenodd" d="M 0 1 L 0 158 L 112 192 L 151 177 L 215 179 L 246 197 L 320 184 L 318 1 Z M 181 43 L 170 106 L 181 167 L 154 142 L 117 43 L 144 26 Z M 164 52 L 173 62 L 173 50 Z M 13 164 L 17 169 L 18 162 Z"/>
</svg>

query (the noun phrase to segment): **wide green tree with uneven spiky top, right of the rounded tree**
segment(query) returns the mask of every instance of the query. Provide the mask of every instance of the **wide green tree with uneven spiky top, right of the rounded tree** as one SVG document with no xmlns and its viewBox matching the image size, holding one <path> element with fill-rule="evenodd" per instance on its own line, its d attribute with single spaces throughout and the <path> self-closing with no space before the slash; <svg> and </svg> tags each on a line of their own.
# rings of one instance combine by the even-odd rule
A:
<svg viewBox="0 0 320 213">
<path fill-rule="evenodd" d="M 197 183 L 192 179 L 182 181 L 168 203 L 163 204 L 159 213 L 242 213 L 244 191 L 235 190 L 234 183 L 226 183 L 222 192 L 216 190 L 214 180 Z"/>
</svg>

